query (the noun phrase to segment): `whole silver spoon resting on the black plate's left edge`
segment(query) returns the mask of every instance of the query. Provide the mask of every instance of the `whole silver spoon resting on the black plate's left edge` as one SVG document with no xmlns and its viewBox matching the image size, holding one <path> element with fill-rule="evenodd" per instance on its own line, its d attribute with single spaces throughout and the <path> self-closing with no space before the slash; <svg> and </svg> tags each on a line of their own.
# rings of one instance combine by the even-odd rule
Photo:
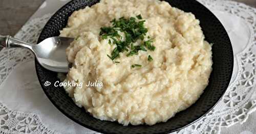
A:
<svg viewBox="0 0 256 134">
<path fill-rule="evenodd" d="M 54 72 L 68 72 L 69 63 L 67 61 L 66 48 L 73 40 L 73 38 L 67 37 L 51 37 L 34 45 L 11 36 L 0 35 L 0 46 L 6 48 L 28 48 L 34 53 L 42 67 Z"/>
</svg>

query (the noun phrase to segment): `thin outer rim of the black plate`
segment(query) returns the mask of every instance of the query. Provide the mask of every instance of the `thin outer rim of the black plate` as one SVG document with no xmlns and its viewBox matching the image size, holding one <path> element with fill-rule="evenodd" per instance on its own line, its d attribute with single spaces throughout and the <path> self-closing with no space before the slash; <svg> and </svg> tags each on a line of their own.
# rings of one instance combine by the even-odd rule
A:
<svg viewBox="0 0 256 134">
<path fill-rule="evenodd" d="M 62 6 L 61 8 L 59 8 L 59 9 L 52 15 L 52 17 L 51 17 L 49 20 L 51 20 L 55 15 L 57 15 L 57 13 L 58 13 L 62 8 L 65 8 L 67 5 L 71 4 L 73 1 L 74 1 L 74 0 L 71 0 L 70 2 L 68 2 L 67 4 L 65 4 L 64 6 Z M 162 0 L 160 0 L 160 1 L 162 1 Z M 209 11 L 209 12 L 216 18 L 216 20 L 219 21 L 219 23 L 221 23 L 221 21 L 216 17 L 216 15 L 215 15 L 214 13 L 212 13 L 208 8 L 206 8 L 203 4 L 201 4 L 200 2 L 198 2 L 198 1 L 196 1 L 196 0 L 190 0 L 190 1 L 195 1 L 197 4 L 201 5 L 203 8 L 205 8 L 205 10 Z M 175 6 L 174 6 L 174 7 L 175 7 Z M 46 23 L 46 25 L 49 24 L 49 20 L 48 20 L 48 22 Z M 221 23 L 221 24 L 222 24 L 222 23 Z M 44 31 L 44 30 L 46 29 L 46 25 L 44 26 L 44 28 L 42 29 L 42 31 Z M 224 28 L 223 24 L 222 24 L 222 28 L 225 30 L 225 34 L 227 35 L 228 41 L 230 42 L 229 44 L 231 45 L 230 38 L 229 38 L 229 36 L 228 36 L 228 34 L 227 34 L 227 32 L 226 32 L 226 29 Z M 39 39 L 42 39 L 42 38 L 43 38 L 43 37 L 41 37 L 41 34 L 40 34 L 40 36 L 39 36 L 39 38 L 38 38 L 38 40 L 37 40 L 37 43 L 40 43 L 40 42 L 39 42 Z M 232 48 L 232 45 L 231 45 L 230 47 Z M 232 54 L 233 54 L 233 50 L 232 50 L 232 49 L 231 49 L 231 52 L 232 52 Z M 230 59 L 230 60 L 231 60 L 231 63 L 232 63 L 232 67 L 231 67 L 231 70 L 230 70 L 231 73 L 230 73 L 229 78 L 228 78 L 228 79 L 229 79 L 229 83 L 230 83 L 230 81 L 231 81 L 232 72 L 233 72 L 233 58 Z M 52 102 L 52 104 L 53 104 L 62 114 L 64 114 L 65 116 L 67 116 L 68 118 L 70 118 L 71 120 L 73 120 L 74 122 L 78 123 L 79 125 L 81 125 L 81 126 L 83 126 L 83 127 L 86 127 L 86 128 L 89 128 L 89 129 L 91 129 L 91 130 L 94 130 L 94 131 L 97 131 L 97 132 L 101 132 L 101 133 L 110 133 L 110 132 L 108 132 L 108 131 L 100 130 L 100 129 L 91 127 L 91 126 L 89 126 L 89 125 L 87 125 L 87 124 L 81 123 L 81 122 L 79 122 L 77 119 L 75 119 L 74 117 L 70 116 L 68 113 L 66 113 L 65 111 L 63 111 L 63 110 L 60 108 L 60 106 L 59 106 L 58 104 L 56 104 L 55 101 L 53 101 L 53 99 L 51 98 L 51 96 L 46 92 L 46 89 L 44 88 L 44 85 L 43 85 L 43 83 L 41 82 L 41 78 L 40 78 L 40 76 L 38 75 L 38 68 L 37 68 L 38 66 L 40 66 L 41 68 L 43 68 L 43 67 L 38 63 L 38 61 L 35 59 L 36 74 L 37 74 L 37 78 L 38 78 L 38 81 L 39 81 L 39 83 L 40 83 L 40 86 L 41 86 L 41 88 L 44 90 L 44 92 L 45 92 L 46 96 L 48 97 L 48 99 Z M 213 66 L 213 65 L 212 65 L 212 66 Z M 212 72 L 211 72 L 211 75 L 212 75 Z M 197 122 L 197 121 L 200 120 L 201 118 L 203 118 L 206 114 L 208 114 L 208 113 L 219 103 L 219 101 L 221 101 L 221 99 L 223 98 L 225 92 L 227 91 L 227 88 L 228 88 L 228 86 L 229 86 L 229 83 L 226 84 L 225 90 L 223 90 L 223 92 L 222 92 L 222 96 L 218 99 L 217 102 L 215 102 L 215 104 L 214 104 L 213 106 L 211 106 L 211 108 L 210 108 L 207 112 L 205 112 L 204 114 L 199 115 L 198 118 L 195 118 L 194 121 L 188 122 L 186 125 L 183 125 L 183 126 L 177 128 L 177 129 L 171 129 L 171 128 L 170 128 L 170 130 L 165 131 L 165 132 L 163 132 L 163 133 L 170 133 L 170 132 L 175 132 L 175 131 L 181 130 L 181 129 L 185 128 L 185 127 L 188 127 L 188 126 L 192 125 L 193 123 Z M 200 97 L 201 97 L 201 96 L 200 96 Z M 82 107 L 81 109 L 84 109 L 84 108 Z M 108 122 L 110 122 L 110 121 L 108 121 Z M 150 127 L 150 126 L 149 126 L 149 127 Z"/>
</svg>

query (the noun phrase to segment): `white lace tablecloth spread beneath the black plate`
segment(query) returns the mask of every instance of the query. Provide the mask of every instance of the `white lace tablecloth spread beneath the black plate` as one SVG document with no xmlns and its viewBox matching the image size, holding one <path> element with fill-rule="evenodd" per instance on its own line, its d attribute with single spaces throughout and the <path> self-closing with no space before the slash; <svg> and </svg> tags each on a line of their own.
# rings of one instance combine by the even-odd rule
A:
<svg viewBox="0 0 256 134">
<path fill-rule="evenodd" d="M 254 133 L 256 9 L 231 1 L 200 2 L 226 28 L 234 51 L 234 70 L 228 90 L 217 106 L 193 125 L 175 133 Z M 47 0 L 15 37 L 35 43 L 47 20 L 65 3 L 66 0 Z M 244 122 L 246 125 L 237 124 Z M 0 52 L 0 133 L 97 132 L 78 125 L 52 105 L 38 83 L 31 52 L 3 49 Z"/>
</svg>

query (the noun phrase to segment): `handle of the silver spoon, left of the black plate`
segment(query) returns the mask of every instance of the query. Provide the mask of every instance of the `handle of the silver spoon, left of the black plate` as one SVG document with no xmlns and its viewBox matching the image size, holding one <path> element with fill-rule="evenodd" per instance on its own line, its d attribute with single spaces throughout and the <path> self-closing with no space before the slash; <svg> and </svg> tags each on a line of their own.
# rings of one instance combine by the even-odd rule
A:
<svg viewBox="0 0 256 134">
<path fill-rule="evenodd" d="M 22 40 L 13 38 L 9 35 L 2 36 L 0 35 L 0 46 L 6 48 L 20 47 L 20 48 L 28 48 L 32 50 L 32 45 L 24 42 Z"/>
</svg>

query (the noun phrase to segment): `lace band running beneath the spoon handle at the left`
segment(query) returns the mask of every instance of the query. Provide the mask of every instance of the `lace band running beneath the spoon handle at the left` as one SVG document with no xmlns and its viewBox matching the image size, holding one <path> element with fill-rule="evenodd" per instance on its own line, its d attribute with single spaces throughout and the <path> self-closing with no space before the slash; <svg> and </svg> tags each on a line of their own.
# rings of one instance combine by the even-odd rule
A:
<svg viewBox="0 0 256 134">
<path fill-rule="evenodd" d="M 40 31 L 51 17 L 51 14 L 36 18 L 23 26 L 23 28 L 15 35 L 15 38 L 35 44 L 40 35 Z M 0 85 L 3 83 L 8 74 L 16 65 L 34 59 L 34 55 L 27 49 L 3 48 L 0 52 Z"/>
</svg>

